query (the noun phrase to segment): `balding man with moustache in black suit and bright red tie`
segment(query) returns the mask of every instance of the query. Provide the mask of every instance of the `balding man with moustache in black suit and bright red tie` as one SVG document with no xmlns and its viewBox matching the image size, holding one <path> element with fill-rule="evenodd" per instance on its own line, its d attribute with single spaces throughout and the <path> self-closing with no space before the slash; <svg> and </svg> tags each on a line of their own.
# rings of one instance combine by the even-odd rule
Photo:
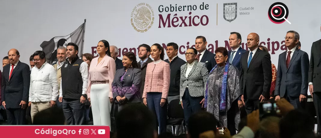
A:
<svg viewBox="0 0 321 138">
<path fill-rule="evenodd" d="M 19 61 L 18 50 L 8 52 L 10 64 L 5 65 L 1 81 L 1 101 L 7 110 L 8 125 L 25 125 L 29 100 L 30 68 Z"/>
</svg>

